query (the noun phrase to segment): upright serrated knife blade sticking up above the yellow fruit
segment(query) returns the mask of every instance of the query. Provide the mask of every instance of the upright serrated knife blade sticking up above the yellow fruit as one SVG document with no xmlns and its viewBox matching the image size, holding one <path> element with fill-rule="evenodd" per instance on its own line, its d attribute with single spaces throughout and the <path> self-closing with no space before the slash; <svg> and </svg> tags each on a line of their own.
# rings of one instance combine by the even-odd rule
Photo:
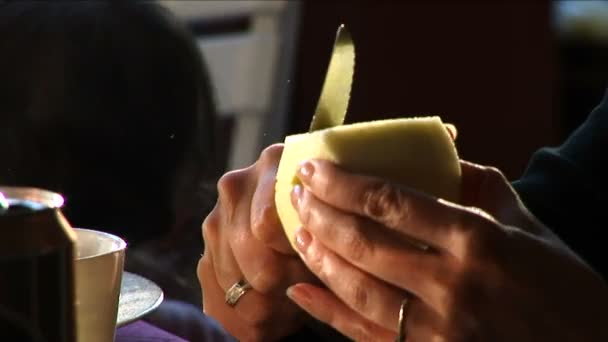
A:
<svg viewBox="0 0 608 342">
<path fill-rule="evenodd" d="M 309 132 L 344 122 L 355 69 L 355 47 L 344 24 L 338 27 L 325 81 Z"/>
</svg>

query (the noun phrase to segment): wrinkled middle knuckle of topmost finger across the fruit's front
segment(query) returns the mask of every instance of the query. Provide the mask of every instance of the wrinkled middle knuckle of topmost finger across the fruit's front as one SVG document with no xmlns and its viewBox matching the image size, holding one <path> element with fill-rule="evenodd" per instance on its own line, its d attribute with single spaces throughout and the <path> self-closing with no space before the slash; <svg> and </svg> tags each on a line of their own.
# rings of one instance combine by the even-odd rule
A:
<svg viewBox="0 0 608 342">
<path fill-rule="evenodd" d="M 388 224 L 407 217 L 408 205 L 400 190 L 386 182 L 373 182 L 363 192 L 363 213 Z"/>
</svg>

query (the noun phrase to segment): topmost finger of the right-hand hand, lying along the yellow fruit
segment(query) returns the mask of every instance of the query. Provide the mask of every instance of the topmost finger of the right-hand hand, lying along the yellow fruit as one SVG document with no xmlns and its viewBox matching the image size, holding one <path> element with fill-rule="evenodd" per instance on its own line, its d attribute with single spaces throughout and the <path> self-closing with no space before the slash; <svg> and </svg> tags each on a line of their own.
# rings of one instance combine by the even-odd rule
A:
<svg viewBox="0 0 608 342">
<path fill-rule="evenodd" d="M 321 201 L 435 248 L 448 249 L 458 223 L 466 219 L 457 205 L 380 178 L 346 172 L 329 161 L 309 160 L 298 176 Z"/>
</svg>

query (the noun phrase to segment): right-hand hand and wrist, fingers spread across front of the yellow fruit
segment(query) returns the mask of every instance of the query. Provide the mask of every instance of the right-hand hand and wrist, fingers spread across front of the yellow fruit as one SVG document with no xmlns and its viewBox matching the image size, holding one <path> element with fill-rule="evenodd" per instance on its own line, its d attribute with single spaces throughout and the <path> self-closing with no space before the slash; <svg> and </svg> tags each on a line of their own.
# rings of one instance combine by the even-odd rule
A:
<svg viewBox="0 0 608 342">
<path fill-rule="evenodd" d="M 408 342 L 608 341 L 602 278 L 499 171 L 461 166 L 454 204 L 327 161 L 303 164 L 294 238 L 327 288 L 299 283 L 288 296 L 357 341 L 394 340 L 404 299 Z"/>
</svg>

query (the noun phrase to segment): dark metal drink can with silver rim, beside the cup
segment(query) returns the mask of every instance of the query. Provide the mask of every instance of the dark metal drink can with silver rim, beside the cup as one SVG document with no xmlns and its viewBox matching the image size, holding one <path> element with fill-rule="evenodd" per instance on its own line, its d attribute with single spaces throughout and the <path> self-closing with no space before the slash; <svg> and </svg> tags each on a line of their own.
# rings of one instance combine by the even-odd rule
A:
<svg viewBox="0 0 608 342">
<path fill-rule="evenodd" d="M 73 342 L 76 235 L 63 197 L 0 186 L 0 341 Z"/>
</svg>

